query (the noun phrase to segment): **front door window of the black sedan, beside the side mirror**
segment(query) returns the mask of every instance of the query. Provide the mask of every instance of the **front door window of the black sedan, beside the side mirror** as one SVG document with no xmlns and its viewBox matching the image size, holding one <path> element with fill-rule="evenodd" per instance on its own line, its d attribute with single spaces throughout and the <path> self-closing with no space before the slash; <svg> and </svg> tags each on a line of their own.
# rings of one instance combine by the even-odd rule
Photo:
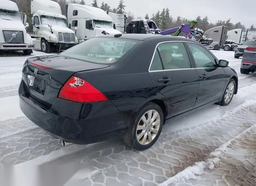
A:
<svg viewBox="0 0 256 186">
<path fill-rule="evenodd" d="M 187 43 L 192 56 L 194 57 L 197 68 L 216 67 L 214 57 L 206 48 L 194 43 Z"/>
</svg>

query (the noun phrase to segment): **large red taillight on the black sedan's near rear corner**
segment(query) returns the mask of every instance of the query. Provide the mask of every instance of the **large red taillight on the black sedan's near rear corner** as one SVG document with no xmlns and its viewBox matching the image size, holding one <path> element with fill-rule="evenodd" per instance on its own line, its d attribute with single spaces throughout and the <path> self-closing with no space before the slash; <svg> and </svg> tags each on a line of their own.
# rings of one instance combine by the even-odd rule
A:
<svg viewBox="0 0 256 186">
<path fill-rule="evenodd" d="M 76 76 L 70 77 L 61 88 L 60 99 L 79 103 L 107 101 L 108 98 L 84 79 Z"/>
</svg>

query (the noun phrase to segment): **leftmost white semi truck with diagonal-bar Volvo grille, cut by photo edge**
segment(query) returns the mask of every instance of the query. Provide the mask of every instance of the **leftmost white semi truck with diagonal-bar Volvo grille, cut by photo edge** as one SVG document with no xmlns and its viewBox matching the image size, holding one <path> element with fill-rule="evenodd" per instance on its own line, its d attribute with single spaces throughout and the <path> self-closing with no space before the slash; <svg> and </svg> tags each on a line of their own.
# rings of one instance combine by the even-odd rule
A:
<svg viewBox="0 0 256 186">
<path fill-rule="evenodd" d="M 19 12 L 15 2 L 0 0 L 0 52 L 22 50 L 30 55 L 34 44 L 27 34 L 29 28 L 26 14 Z"/>
</svg>

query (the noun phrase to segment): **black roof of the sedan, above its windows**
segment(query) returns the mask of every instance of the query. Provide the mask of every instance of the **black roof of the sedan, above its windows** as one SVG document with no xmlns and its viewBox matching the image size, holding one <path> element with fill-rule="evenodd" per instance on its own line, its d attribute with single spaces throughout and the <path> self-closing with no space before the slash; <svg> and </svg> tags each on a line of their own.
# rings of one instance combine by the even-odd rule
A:
<svg viewBox="0 0 256 186">
<path fill-rule="evenodd" d="M 100 35 L 95 37 L 106 37 L 106 38 L 114 38 L 115 35 L 119 34 L 108 34 L 108 35 Z M 166 38 L 166 41 L 174 40 L 174 41 L 194 41 L 191 39 L 187 39 L 180 36 L 170 36 L 170 35 L 161 35 L 161 34 L 122 34 L 122 36 L 119 36 L 117 38 L 123 38 L 123 39 L 131 39 L 131 40 L 140 40 L 145 41 L 150 38 Z"/>
</svg>

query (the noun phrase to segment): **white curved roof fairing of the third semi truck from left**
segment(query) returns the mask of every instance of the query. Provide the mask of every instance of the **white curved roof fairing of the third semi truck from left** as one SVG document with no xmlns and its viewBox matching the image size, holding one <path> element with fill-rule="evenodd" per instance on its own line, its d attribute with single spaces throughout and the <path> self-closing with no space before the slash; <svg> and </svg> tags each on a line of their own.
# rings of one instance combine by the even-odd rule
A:
<svg viewBox="0 0 256 186">
<path fill-rule="evenodd" d="M 112 18 L 102 9 L 93 6 L 86 6 L 82 4 L 68 4 L 68 9 L 78 10 L 77 18 L 90 18 L 93 20 L 104 20 L 112 22 Z M 80 14 L 84 12 L 84 14 Z"/>
</svg>

